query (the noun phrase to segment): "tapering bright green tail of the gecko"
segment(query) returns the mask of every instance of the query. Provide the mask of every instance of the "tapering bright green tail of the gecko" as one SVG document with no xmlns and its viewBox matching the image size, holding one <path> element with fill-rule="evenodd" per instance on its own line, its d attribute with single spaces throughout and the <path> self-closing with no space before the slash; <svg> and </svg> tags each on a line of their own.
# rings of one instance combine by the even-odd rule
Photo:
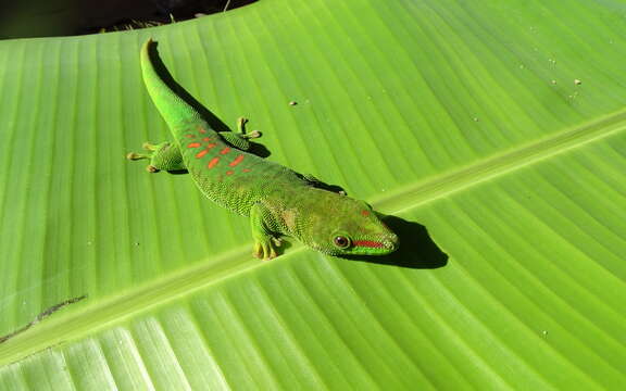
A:
<svg viewBox="0 0 626 391">
<path fill-rule="evenodd" d="M 156 41 L 148 38 L 141 48 L 141 75 L 152 102 L 177 138 L 177 133 L 188 129 L 191 124 L 204 124 L 202 116 L 193 106 L 180 98 L 170 85 L 175 84 L 163 65 L 156 51 Z M 164 79 L 168 79 L 165 83 Z"/>
</svg>

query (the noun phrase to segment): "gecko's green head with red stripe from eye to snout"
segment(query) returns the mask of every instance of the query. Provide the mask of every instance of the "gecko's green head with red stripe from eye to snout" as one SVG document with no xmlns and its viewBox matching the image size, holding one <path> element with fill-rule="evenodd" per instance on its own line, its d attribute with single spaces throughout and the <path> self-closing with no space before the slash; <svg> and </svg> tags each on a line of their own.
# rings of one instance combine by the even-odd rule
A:
<svg viewBox="0 0 626 391">
<path fill-rule="evenodd" d="M 305 224 L 305 244 L 330 255 L 385 255 L 398 249 L 398 236 L 364 201 L 328 193 Z M 330 195 L 331 194 L 331 195 Z"/>
</svg>

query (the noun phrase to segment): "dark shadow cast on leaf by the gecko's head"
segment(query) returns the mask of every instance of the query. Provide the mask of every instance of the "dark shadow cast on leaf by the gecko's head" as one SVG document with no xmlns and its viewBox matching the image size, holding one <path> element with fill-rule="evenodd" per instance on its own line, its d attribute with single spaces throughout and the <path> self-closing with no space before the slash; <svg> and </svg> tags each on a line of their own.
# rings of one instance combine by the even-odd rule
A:
<svg viewBox="0 0 626 391">
<path fill-rule="evenodd" d="M 448 254 L 430 239 L 426 227 L 396 216 L 386 216 L 385 224 L 400 238 L 400 248 L 383 256 L 346 256 L 348 260 L 395 265 L 416 269 L 434 269 L 448 264 Z"/>
</svg>

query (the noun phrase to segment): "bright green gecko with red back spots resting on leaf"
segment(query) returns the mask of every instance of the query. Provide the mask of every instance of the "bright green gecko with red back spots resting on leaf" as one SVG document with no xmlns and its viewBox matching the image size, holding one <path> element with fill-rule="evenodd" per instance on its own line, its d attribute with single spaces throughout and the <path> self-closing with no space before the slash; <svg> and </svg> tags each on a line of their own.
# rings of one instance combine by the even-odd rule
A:
<svg viewBox="0 0 626 391">
<path fill-rule="evenodd" d="M 148 159 L 148 171 L 187 169 L 209 199 L 250 217 L 253 255 L 273 258 L 283 235 L 330 255 L 383 255 L 395 251 L 399 241 L 364 201 L 320 189 L 316 180 L 248 153 L 246 119 L 239 131 L 215 131 L 200 113 L 161 79 L 150 58 L 149 39 L 142 47 L 141 72 L 154 105 L 167 123 L 174 141 L 145 143 L 147 154 L 129 153 L 128 159 Z"/>
</svg>

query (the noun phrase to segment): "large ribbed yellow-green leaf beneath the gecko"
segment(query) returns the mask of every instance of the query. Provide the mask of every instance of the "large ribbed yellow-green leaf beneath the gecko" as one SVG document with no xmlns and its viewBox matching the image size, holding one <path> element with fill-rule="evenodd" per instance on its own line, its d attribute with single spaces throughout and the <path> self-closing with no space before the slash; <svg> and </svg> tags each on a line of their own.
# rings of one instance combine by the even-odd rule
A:
<svg viewBox="0 0 626 391">
<path fill-rule="evenodd" d="M 624 12 L 263 0 L 0 42 L 0 389 L 619 389 Z M 168 137 L 149 37 L 268 160 L 393 215 L 401 250 L 260 262 L 246 218 L 125 161 Z"/>
</svg>

